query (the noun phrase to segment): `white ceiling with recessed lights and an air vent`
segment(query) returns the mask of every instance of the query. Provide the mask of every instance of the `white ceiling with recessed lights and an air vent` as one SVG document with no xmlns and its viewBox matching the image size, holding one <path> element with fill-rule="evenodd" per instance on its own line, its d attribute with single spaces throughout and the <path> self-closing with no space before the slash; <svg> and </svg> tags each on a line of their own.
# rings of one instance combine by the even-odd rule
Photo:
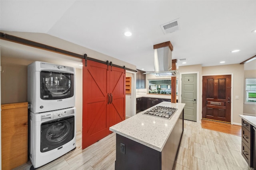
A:
<svg viewBox="0 0 256 170">
<path fill-rule="evenodd" d="M 171 41 L 172 59 L 187 59 L 178 66 L 215 66 L 256 55 L 255 8 L 256 0 L 0 0 L 0 30 L 46 33 L 145 71 L 154 69 L 153 45 Z M 164 34 L 160 25 L 178 18 L 180 30 Z"/>
</svg>

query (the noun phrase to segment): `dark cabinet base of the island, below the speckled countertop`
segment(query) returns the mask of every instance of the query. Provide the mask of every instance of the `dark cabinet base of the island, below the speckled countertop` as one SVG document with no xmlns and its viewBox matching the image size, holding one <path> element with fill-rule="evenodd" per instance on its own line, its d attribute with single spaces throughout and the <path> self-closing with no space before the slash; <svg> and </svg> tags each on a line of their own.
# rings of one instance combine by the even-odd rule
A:
<svg viewBox="0 0 256 170">
<path fill-rule="evenodd" d="M 162 152 L 116 134 L 115 170 L 172 170 L 184 129 L 183 111 Z"/>
</svg>

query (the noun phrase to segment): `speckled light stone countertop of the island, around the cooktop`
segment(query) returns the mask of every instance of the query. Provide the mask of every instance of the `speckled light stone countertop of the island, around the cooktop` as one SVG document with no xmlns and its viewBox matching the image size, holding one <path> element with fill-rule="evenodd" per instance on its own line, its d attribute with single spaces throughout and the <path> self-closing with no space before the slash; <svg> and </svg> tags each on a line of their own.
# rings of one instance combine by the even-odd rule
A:
<svg viewBox="0 0 256 170">
<path fill-rule="evenodd" d="M 149 108 L 110 127 L 110 131 L 161 152 L 185 104 L 161 102 L 156 106 L 174 107 L 177 111 L 171 119 L 164 119 L 142 114 Z"/>
</svg>

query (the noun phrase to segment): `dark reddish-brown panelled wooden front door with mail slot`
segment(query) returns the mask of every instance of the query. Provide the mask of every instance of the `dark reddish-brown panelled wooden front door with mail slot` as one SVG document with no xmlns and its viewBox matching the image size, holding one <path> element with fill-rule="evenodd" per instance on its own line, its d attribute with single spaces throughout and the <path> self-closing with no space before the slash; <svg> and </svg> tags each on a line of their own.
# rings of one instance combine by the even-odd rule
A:
<svg viewBox="0 0 256 170">
<path fill-rule="evenodd" d="M 203 76 L 202 118 L 229 122 L 231 75 Z"/>
</svg>

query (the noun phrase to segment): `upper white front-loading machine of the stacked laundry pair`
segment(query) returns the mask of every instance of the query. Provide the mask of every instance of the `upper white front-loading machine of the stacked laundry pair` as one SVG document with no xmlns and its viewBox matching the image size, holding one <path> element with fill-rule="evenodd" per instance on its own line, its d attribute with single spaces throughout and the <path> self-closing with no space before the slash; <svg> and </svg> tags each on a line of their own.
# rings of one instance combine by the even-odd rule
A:
<svg viewBox="0 0 256 170">
<path fill-rule="evenodd" d="M 75 107 L 75 74 L 70 66 L 36 61 L 28 65 L 28 103 L 30 111 Z"/>
</svg>

